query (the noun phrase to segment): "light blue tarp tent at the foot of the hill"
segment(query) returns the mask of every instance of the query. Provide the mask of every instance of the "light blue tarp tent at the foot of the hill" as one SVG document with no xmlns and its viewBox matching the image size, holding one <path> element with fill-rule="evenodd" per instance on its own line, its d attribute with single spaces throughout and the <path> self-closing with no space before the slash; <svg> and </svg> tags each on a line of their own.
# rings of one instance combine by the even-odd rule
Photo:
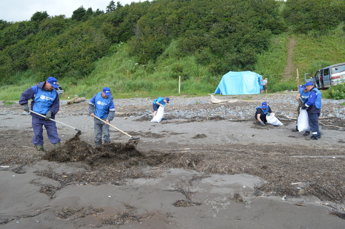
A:
<svg viewBox="0 0 345 229">
<path fill-rule="evenodd" d="M 221 78 L 215 94 L 251 95 L 259 94 L 262 76 L 251 71 L 228 72 Z"/>
</svg>

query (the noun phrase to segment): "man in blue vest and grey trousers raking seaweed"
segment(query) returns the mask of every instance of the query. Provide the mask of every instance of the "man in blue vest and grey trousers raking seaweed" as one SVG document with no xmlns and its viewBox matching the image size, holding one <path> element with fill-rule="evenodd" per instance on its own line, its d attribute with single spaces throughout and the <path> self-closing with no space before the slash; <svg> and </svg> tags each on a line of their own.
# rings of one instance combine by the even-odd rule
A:
<svg viewBox="0 0 345 229">
<path fill-rule="evenodd" d="M 115 107 L 109 87 L 104 87 L 101 92 L 94 95 L 89 102 L 89 114 L 93 117 L 93 129 L 95 130 L 95 144 L 102 145 L 102 133 L 104 143 L 110 143 L 108 123 L 115 117 Z M 103 119 L 100 121 L 95 116 Z"/>
</svg>

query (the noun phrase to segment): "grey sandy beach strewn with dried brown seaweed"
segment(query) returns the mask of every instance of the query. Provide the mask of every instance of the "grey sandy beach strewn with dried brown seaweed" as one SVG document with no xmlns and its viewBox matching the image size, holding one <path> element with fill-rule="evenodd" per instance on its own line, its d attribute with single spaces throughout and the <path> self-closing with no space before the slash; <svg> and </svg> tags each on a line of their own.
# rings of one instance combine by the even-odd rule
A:
<svg viewBox="0 0 345 229">
<path fill-rule="evenodd" d="M 0 120 L 2 228 L 344 228 L 345 132 L 335 127 L 307 141 L 293 119 L 118 115 L 111 124 L 140 137 L 122 153 L 130 137 L 110 127 L 112 143 L 96 149 L 92 117 L 58 114 L 100 156 L 57 162 L 43 159 L 56 150 L 45 132 L 45 152 L 33 148 L 29 115 Z M 76 131 L 57 126 L 66 148 Z"/>
</svg>

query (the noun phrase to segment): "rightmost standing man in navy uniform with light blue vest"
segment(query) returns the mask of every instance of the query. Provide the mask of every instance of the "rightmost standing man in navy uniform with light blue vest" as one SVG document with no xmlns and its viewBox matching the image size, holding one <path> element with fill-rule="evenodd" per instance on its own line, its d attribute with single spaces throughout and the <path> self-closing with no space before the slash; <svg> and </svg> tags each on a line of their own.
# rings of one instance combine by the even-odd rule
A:
<svg viewBox="0 0 345 229">
<path fill-rule="evenodd" d="M 321 133 L 319 130 L 319 116 L 321 112 L 321 92 L 311 83 L 307 82 L 304 86 L 310 94 L 308 97 L 308 101 L 305 105 L 301 108 L 306 109 L 309 118 L 309 126 L 310 130 L 312 131 L 312 136 L 310 138 L 306 138 L 307 140 L 317 140 L 321 138 Z"/>
</svg>

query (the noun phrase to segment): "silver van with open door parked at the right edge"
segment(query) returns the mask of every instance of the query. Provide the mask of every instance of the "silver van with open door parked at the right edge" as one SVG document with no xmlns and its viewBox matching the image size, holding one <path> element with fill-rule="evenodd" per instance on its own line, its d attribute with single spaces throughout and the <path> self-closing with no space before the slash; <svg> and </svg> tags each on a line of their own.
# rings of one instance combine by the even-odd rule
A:
<svg viewBox="0 0 345 229">
<path fill-rule="evenodd" d="M 317 89 L 335 86 L 339 81 L 345 81 L 345 63 L 334 64 L 318 70 L 314 76 L 304 74 L 305 82 L 312 82 Z"/>
</svg>

